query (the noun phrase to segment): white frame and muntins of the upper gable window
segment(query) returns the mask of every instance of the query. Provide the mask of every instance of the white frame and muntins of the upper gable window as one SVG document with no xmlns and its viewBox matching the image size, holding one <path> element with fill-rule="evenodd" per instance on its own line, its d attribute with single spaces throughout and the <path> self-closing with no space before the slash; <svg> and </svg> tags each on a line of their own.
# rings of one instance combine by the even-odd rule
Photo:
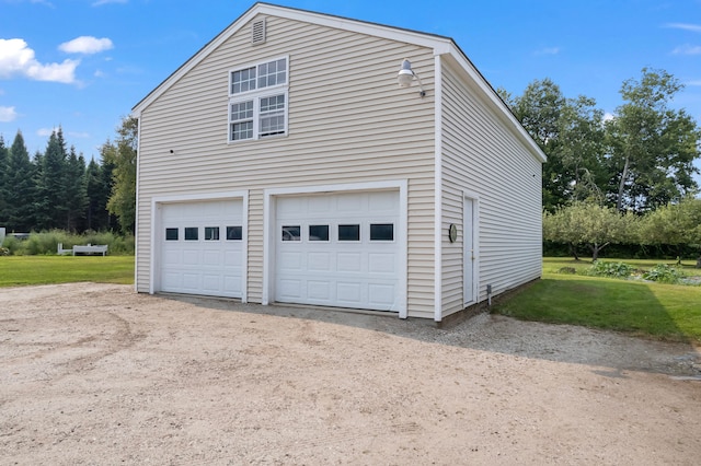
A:
<svg viewBox="0 0 701 466">
<path fill-rule="evenodd" d="M 244 91 L 244 92 L 239 92 L 239 93 L 232 93 L 231 92 L 231 88 L 232 88 L 232 83 L 231 83 L 231 75 L 235 72 L 235 71 L 240 71 L 240 70 L 244 70 L 248 68 L 255 68 L 256 69 L 256 78 L 255 78 L 255 82 L 256 82 L 256 86 L 257 86 L 257 68 L 261 65 L 265 65 L 265 63 L 269 63 L 272 61 L 277 61 L 277 60 L 285 60 L 285 77 L 286 77 L 286 81 L 284 84 L 275 84 L 275 85 L 271 85 L 271 86 L 265 86 L 265 88 L 261 88 L 261 89 L 253 89 L 253 90 L 249 90 L 249 91 Z M 280 56 L 280 57 L 275 57 L 275 58 L 271 58 L 271 59 L 266 59 L 266 60 L 261 60 L 254 63 L 246 63 L 246 65 L 242 65 L 240 67 L 237 68 L 232 68 L 229 70 L 229 74 L 228 74 L 228 85 L 229 85 L 229 105 L 228 105 L 228 109 L 227 109 L 227 141 L 229 144 L 235 144 L 235 143 L 241 143 L 241 142 L 246 142 L 246 141 L 258 141 L 261 139 L 274 139 L 274 138 L 280 138 L 280 137 L 285 137 L 288 135 L 289 131 L 289 55 L 285 55 L 285 56 Z M 284 95 L 285 96 L 285 109 L 284 109 L 284 131 L 279 135 L 271 135 L 271 136 L 261 136 L 261 129 L 260 129 L 260 121 L 261 121 L 261 100 L 265 98 L 265 97 L 273 97 L 276 95 Z M 253 101 L 253 137 L 252 138 L 246 138 L 246 139 L 232 139 L 231 138 L 231 125 L 234 123 L 231 120 L 231 105 L 233 104 L 240 104 L 243 102 L 249 102 L 249 101 Z M 238 120 L 239 123 L 243 123 L 243 121 L 249 121 L 249 119 L 245 120 Z"/>
</svg>

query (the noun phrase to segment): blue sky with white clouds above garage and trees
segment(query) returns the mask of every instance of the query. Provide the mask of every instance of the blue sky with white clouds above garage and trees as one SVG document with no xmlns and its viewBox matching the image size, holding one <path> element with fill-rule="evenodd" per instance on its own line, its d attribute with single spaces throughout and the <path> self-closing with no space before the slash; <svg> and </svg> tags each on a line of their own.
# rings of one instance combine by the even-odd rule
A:
<svg viewBox="0 0 701 466">
<path fill-rule="evenodd" d="M 131 107 L 254 2 L 0 0 L 0 135 L 30 153 L 53 128 L 87 160 Z M 701 123 L 701 0 L 271 2 L 451 37 L 496 88 L 550 78 L 567 97 L 614 113 L 643 67 L 686 90 Z M 701 182 L 701 178 L 699 178 Z"/>
</svg>

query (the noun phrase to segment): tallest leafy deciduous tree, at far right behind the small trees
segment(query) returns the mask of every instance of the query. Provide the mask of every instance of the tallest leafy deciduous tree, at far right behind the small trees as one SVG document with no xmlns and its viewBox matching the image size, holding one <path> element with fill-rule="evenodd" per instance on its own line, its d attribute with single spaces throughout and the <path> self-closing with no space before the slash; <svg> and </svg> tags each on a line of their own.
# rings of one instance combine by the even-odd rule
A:
<svg viewBox="0 0 701 466">
<path fill-rule="evenodd" d="M 654 210 L 698 190 L 692 175 L 701 132 L 683 109 L 670 108 L 683 85 L 644 68 L 621 86 L 623 105 L 607 121 L 609 200 L 620 210 Z"/>
</svg>

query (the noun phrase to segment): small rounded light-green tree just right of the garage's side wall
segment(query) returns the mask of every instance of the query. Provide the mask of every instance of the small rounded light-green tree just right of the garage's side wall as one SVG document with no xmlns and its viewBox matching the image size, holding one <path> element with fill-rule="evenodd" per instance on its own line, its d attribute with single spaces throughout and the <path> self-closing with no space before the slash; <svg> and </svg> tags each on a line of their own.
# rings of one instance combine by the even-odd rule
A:
<svg viewBox="0 0 701 466">
<path fill-rule="evenodd" d="M 637 234 L 635 215 L 594 203 L 576 202 L 543 214 L 543 238 L 568 244 L 576 260 L 579 245 L 587 245 L 596 260 L 609 244 L 633 242 Z"/>
</svg>

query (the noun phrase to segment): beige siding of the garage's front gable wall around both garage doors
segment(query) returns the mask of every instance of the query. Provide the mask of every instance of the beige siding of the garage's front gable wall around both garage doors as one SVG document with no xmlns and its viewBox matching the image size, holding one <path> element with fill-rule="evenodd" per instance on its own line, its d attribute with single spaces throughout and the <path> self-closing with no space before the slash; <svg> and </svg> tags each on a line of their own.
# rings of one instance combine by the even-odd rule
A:
<svg viewBox="0 0 701 466">
<path fill-rule="evenodd" d="M 281 56 L 288 136 L 229 144 L 229 71 Z M 404 58 L 426 97 L 397 85 Z M 248 191 L 246 294 L 262 302 L 265 188 L 406 180 L 409 316 L 433 317 L 433 66 L 426 47 L 289 19 L 268 15 L 263 45 L 240 27 L 140 108 L 137 290 L 149 291 L 153 197 Z"/>
</svg>

